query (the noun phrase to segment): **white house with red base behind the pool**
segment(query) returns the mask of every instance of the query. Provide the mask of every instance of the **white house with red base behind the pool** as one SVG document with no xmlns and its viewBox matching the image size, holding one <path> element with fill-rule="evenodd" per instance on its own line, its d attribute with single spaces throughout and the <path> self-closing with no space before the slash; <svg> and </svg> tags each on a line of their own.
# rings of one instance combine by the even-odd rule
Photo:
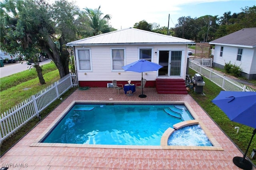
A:
<svg viewBox="0 0 256 170">
<path fill-rule="evenodd" d="M 128 28 L 67 43 L 74 49 L 79 85 L 106 87 L 117 80 L 126 84 L 140 82 L 141 73 L 126 72 L 122 66 L 139 59 L 158 63 L 158 71 L 144 72 L 146 87 L 156 87 L 156 80 L 184 82 L 188 45 L 194 41 L 141 29 Z"/>
</svg>

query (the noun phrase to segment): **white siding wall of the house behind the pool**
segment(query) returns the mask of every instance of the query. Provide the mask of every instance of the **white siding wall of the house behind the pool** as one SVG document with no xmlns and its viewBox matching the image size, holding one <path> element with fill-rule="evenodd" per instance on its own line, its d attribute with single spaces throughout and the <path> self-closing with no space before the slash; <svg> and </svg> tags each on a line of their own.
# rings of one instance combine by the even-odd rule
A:
<svg viewBox="0 0 256 170">
<path fill-rule="evenodd" d="M 158 50 L 182 50 L 183 55 L 187 53 L 187 45 L 103 45 L 103 46 L 91 46 L 90 52 L 92 56 L 92 71 L 77 70 L 78 81 L 109 81 L 109 80 L 140 80 L 142 73 L 138 72 L 125 72 L 124 70 L 113 71 L 111 69 L 111 48 L 125 48 L 126 58 L 124 65 L 130 64 L 134 61 L 138 61 L 138 48 L 153 48 L 153 61 L 158 63 Z M 76 47 L 80 48 L 80 47 Z M 157 52 L 157 53 L 155 53 Z M 77 55 L 77 54 L 76 54 Z M 182 76 L 175 78 L 185 78 L 186 74 L 186 58 L 184 55 L 182 58 Z M 77 59 L 77 56 L 76 56 Z M 76 60 L 77 61 L 77 60 Z M 85 74 L 86 73 L 86 74 Z M 147 80 L 156 80 L 158 75 L 157 71 L 143 72 L 143 78 Z M 171 77 L 170 77 L 171 78 Z"/>
</svg>

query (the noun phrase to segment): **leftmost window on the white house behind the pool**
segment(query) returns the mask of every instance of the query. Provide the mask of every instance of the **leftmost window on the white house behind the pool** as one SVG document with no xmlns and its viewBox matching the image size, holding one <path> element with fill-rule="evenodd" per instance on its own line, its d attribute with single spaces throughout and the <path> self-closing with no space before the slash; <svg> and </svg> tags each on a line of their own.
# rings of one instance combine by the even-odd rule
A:
<svg viewBox="0 0 256 170">
<path fill-rule="evenodd" d="M 79 70 L 92 70 L 89 49 L 78 49 Z"/>
</svg>

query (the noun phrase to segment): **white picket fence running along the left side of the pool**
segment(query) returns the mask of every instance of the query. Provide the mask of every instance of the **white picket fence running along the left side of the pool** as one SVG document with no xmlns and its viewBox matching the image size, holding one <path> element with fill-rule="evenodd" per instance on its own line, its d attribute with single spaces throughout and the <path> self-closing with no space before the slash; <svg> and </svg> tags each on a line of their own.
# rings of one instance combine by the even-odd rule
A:
<svg viewBox="0 0 256 170">
<path fill-rule="evenodd" d="M 43 109 L 74 86 L 78 86 L 77 77 L 75 74 L 70 73 L 36 95 L 12 107 L 9 111 L 2 113 L 0 119 L 1 144 L 4 139 L 15 133 L 33 117 L 37 116 L 40 119 L 40 112 Z"/>
</svg>

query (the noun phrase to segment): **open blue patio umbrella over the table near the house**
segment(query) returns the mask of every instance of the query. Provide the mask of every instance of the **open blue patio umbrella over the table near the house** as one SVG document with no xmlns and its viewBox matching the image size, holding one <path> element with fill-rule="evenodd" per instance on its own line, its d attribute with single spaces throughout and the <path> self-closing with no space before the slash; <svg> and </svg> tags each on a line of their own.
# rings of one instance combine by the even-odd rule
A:
<svg viewBox="0 0 256 170">
<path fill-rule="evenodd" d="M 163 66 L 159 65 L 159 64 L 156 64 L 156 63 L 153 63 L 153 62 L 150 62 L 150 61 L 147 61 L 147 60 L 138 60 L 138 61 L 135 61 L 131 64 L 128 64 L 126 66 L 122 66 L 122 68 L 125 70 L 125 71 L 133 71 L 133 72 L 141 72 L 141 82 L 143 83 L 143 72 L 146 72 L 146 71 L 157 71 L 159 70 L 160 68 L 162 68 Z M 145 94 L 143 94 L 143 84 L 142 84 L 142 94 L 139 95 L 140 98 L 146 98 L 147 96 Z"/>
</svg>

